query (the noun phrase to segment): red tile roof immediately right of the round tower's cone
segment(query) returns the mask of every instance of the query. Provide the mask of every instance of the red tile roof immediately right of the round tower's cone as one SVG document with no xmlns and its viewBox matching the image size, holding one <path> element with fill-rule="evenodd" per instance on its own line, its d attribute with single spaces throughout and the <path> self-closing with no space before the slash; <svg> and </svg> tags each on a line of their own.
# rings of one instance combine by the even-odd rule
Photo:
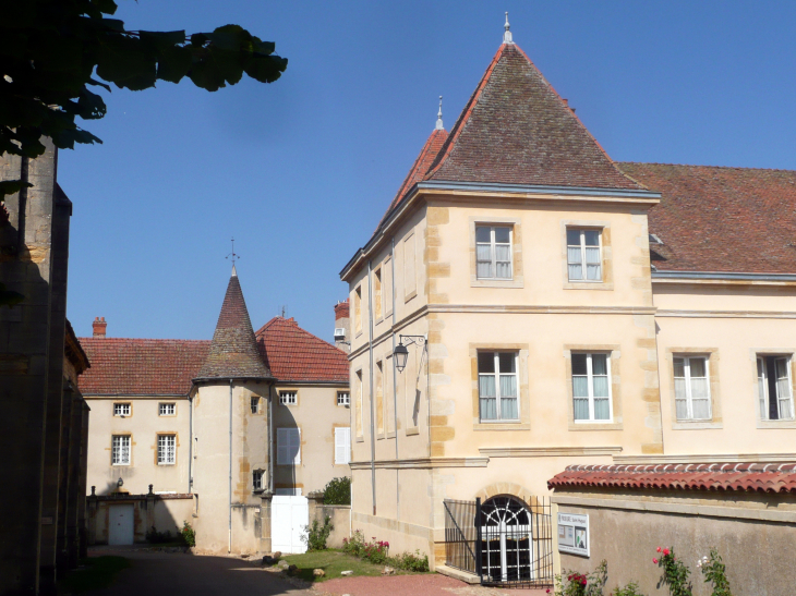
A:
<svg viewBox="0 0 796 596">
<path fill-rule="evenodd" d="M 305 331 L 293 318 L 274 317 L 255 336 L 263 357 L 280 381 L 348 385 L 346 353 Z"/>
</svg>

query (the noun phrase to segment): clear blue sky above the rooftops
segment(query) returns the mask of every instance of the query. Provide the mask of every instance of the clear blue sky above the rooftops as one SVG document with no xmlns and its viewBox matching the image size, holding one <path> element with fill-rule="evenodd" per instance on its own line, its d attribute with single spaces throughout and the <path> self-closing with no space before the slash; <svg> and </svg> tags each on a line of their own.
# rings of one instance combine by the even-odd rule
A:
<svg viewBox="0 0 796 596">
<path fill-rule="evenodd" d="M 108 95 L 61 151 L 74 203 L 69 318 L 111 337 L 209 339 L 230 238 L 255 329 L 330 340 L 338 272 L 436 120 L 453 126 L 515 41 L 616 160 L 796 169 L 796 3 L 119 0 L 130 28 L 237 23 L 290 60 L 278 82 Z"/>
</svg>

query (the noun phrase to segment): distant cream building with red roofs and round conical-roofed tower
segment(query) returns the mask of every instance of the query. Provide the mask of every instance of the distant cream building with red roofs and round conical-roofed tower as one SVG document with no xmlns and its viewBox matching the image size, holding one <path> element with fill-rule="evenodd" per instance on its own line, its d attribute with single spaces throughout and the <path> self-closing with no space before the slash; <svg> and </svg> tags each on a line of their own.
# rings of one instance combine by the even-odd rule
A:
<svg viewBox="0 0 796 596">
<path fill-rule="evenodd" d="M 147 519 L 190 522 L 203 551 L 269 550 L 272 496 L 349 474 L 345 353 L 292 318 L 255 333 L 234 268 L 212 341 L 109 338 L 106 325 L 82 340 L 93 542 L 142 542 Z"/>
</svg>

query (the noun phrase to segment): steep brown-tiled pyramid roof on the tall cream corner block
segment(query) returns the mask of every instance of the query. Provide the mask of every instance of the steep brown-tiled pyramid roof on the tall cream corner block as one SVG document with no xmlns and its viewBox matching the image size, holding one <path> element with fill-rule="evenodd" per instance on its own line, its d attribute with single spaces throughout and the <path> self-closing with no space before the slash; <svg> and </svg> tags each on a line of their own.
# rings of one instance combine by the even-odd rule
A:
<svg viewBox="0 0 796 596">
<path fill-rule="evenodd" d="M 425 180 L 643 190 L 516 45 L 504 44 Z"/>
</svg>

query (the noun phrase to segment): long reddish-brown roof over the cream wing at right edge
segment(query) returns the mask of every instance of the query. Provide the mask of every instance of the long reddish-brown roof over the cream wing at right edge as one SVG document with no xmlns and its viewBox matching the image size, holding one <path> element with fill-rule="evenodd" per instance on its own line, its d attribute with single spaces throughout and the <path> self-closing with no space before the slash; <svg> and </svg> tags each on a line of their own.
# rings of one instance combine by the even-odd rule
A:
<svg viewBox="0 0 796 596">
<path fill-rule="evenodd" d="M 617 166 L 662 194 L 649 214 L 659 271 L 796 273 L 796 171 Z"/>
</svg>

